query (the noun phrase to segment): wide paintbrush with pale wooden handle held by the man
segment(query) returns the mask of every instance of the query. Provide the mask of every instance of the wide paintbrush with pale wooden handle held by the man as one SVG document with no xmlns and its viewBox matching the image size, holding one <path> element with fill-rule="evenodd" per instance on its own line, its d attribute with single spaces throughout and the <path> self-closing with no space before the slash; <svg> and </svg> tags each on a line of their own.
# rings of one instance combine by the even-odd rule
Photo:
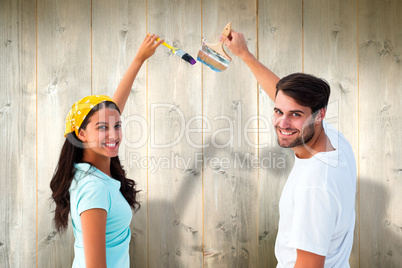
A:
<svg viewBox="0 0 402 268">
<path fill-rule="evenodd" d="M 231 22 L 229 22 L 225 29 L 223 29 L 222 35 L 229 36 L 231 32 Z M 212 70 L 222 72 L 226 70 L 232 59 L 223 50 L 223 41 L 221 40 L 217 44 L 203 43 L 200 51 L 197 55 L 197 60 L 209 66 Z"/>
</svg>

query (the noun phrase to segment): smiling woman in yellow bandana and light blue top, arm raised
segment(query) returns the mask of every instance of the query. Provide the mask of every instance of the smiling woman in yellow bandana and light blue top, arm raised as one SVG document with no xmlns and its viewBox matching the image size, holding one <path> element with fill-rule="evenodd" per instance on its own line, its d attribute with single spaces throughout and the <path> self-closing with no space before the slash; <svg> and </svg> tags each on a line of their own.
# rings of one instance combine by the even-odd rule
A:
<svg viewBox="0 0 402 268">
<path fill-rule="evenodd" d="M 71 215 L 73 267 L 129 267 L 129 225 L 138 209 L 135 182 L 126 178 L 118 149 L 120 114 L 134 79 L 163 42 L 147 35 L 113 99 L 93 95 L 77 101 L 66 117 L 63 148 L 50 182 L 56 204 L 54 222 L 62 233 Z"/>
</svg>

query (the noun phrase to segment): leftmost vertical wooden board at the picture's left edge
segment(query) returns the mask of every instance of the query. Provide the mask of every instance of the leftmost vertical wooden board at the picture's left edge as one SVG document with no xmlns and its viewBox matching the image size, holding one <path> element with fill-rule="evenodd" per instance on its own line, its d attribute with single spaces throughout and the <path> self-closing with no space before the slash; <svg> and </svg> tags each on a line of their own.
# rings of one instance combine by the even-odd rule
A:
<svg viewBox="0 0 402 268">
<path fill-rule="evenodd" d="M 36 265 L 35 3 L 0 2 L 0 266 Z"/>
</svg>

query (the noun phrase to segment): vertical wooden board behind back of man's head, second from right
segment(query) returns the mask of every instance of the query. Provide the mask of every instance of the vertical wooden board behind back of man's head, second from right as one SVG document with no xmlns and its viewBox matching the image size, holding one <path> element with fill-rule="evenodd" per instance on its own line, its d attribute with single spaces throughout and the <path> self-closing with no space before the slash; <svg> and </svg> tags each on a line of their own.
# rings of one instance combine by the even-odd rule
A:
<svg viewBox="0 0 402 268">
<path fill-rule="evenodd" d="M 306 0 L 303 10 L 304 71 L 330 84 L 325 119 L 350 142 L 358 164 L 357 2 Z M 358 205 L 356 194 L 352 267 L 359 267 Z"/>
</svg>

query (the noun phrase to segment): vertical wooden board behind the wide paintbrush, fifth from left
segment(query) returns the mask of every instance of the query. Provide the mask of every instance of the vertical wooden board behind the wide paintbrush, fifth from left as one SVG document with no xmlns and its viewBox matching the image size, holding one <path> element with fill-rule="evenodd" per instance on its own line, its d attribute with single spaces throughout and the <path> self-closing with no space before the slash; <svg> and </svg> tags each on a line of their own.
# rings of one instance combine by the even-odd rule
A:
<svg viewBox="0 0 402 268">
<path fill-rule="evenodd" d="M 255 53 L 256 11 L 256 1 L 203 1 L 203 40 L 217 43 L 232 22 Z M 227 48 L 226 52 L 232 62 L 224 72 L 203 65 L 203 115 L 208 122 L 203 152 L 204 266 L 257 267 L 257 83 L 247 66 Z"/>
</svg>

